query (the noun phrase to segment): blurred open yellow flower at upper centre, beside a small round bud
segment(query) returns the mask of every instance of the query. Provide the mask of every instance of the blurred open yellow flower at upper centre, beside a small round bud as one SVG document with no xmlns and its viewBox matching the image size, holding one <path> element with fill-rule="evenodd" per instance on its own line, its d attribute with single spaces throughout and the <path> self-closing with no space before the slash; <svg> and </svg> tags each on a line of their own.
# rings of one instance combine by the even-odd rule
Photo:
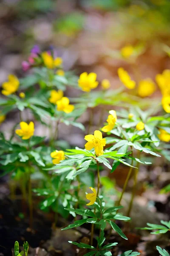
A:
<svg viewBox="0 0 170 256">
<path fill-rule="evenodd" d="M 96 78 L 96 73 L 82 73 L 78 80 L 79 87 L 81 87 L 84 92 L 90 92 L 91 89 L 96 88 L 99 84 L 99 82 L 96 81 Z"/>
</svg>

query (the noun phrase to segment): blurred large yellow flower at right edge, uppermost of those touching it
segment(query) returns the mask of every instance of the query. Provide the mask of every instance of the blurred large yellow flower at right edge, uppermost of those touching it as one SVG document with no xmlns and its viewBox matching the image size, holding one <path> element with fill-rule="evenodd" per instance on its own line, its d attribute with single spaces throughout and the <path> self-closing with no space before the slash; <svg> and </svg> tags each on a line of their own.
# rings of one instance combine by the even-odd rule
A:
<svg viewBox="0 0 170 256">
<path fill-rule="evenodd" d="M 156 82 L 163 96 L 170 94 L 170 70 L 164 70 L 162 74 L 157 74 Z"/>
</svg>

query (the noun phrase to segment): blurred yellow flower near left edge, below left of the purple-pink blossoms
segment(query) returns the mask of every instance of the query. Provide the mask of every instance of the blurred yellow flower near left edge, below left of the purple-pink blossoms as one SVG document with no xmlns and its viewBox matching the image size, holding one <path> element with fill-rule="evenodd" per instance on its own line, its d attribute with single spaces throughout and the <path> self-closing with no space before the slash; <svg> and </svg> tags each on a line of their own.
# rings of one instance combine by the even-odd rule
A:
<svg viewBox="0 0 170 256">
<path fill-rule="evenodd" d="M 8 81 L 4 82 L 2 84 L 3 90 L 2 94 L 3 95 L 10 95 L 12 93 L 15 93 L 19 87 L 19 80 L 17 79 L 17 76 L 14 75 L 9 75 L 8 76 Z"/>
</svg>

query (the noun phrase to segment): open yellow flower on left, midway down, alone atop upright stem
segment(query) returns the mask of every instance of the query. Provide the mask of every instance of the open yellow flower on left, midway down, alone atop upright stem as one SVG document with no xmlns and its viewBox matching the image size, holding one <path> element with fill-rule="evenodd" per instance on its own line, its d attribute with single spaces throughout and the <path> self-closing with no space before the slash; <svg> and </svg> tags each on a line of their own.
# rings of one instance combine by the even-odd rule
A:
<svg viewBox="0 0 170 256">
<path fill-rule="evenodd" d="M 15 131 L 17 135 L 22 137 L 23 140 L 28 140 L 34 135 L 34 123 L 30 122 L 29 125 L 26 122 L 20 122 L 20 128 Z"/>
</svg>

